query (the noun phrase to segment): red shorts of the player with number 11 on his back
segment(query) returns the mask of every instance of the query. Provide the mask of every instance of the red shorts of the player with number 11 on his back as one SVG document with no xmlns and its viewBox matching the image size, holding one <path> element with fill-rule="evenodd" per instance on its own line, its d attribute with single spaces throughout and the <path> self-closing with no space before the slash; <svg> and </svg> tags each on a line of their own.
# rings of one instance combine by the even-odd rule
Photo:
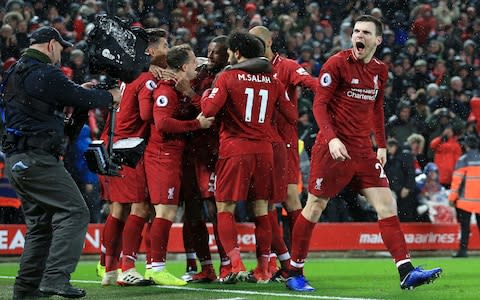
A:
<svg viewBox="0 0 480 300">
<path fill-rule="evenodd" d="M 273 183 L 273 155 L 245 154 L 219 159 L 215 200 L 269 200 Z"/>
</svg>

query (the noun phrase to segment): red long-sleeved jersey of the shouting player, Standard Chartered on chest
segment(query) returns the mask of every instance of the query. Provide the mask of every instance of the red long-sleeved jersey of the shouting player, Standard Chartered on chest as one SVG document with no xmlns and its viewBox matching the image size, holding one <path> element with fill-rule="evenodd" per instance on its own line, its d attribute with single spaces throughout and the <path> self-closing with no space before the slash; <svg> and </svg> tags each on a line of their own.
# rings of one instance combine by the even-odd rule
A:
<svg viewBox="0 0 480 300">
<path fill-rule="evenodd" d="M 332 56 L 320 71 L 313 113 L 320 129 L 316 143 L 338 137 L 349 153 L 372 152 L 370 134 L 385 148 L 383 90 L 387 66 L 376 58 L 359 61 L 351 49 Z"/>
</svg>

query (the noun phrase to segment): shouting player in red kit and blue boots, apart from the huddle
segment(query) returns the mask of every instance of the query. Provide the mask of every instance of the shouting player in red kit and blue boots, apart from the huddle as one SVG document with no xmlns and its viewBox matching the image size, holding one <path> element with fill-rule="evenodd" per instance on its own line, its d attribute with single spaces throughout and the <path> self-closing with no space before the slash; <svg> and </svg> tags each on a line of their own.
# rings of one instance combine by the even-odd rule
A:
<svg viewBox="0 0 480 300">
<path fill-rule="evenodd" d="M 320 72 L 313 107 L 320 131 L 312 149 L 307 204 L 292 234 L 287 280 L 291 290 L 314 290 L 303 276 L 312 231 L 328 200 L 350 182 L 377 211 L 381 236 L 398 268 L 402 289 L 431 282 L 442 272 L 440 268 L 413 267 L 383 169 L 383 90 L 388 79 L 387 66 L 373 57 L 382 42 L 382 26 L 373 16 L 360 16 L 355 20 L 353 47 L 332 56 Z M 379 147 L 376 154 L 370 141 L 372 128 Z"/>
</svg>

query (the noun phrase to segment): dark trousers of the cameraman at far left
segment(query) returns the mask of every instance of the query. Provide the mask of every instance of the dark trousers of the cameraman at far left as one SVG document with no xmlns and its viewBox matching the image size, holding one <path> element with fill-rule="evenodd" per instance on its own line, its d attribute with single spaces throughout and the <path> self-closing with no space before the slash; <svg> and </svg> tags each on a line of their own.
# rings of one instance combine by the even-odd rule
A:
<svg viewBox="0 0 480 300">
<path fill-rule="evenodd" d="M 14 292 L 68 284 L 82 253 L 89 211 L 63 161 L 43 150 L 11 154 L 5 173 L 27 225 Z"/>
</svg>

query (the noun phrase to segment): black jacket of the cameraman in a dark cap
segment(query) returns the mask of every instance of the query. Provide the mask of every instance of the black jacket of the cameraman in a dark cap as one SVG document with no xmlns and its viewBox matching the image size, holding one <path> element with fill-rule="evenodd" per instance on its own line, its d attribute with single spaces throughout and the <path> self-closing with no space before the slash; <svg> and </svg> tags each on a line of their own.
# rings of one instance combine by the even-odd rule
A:
<svg viewBox="0 0 480 300">
<path fill-rule="evenodd" d="M 89 90 L 75 84 L 59 68 L 52 65 L 45 54 L 37 50 L 28 49 L 15 68 L 22 68 L 25 71 L 24 76 L 12 76 L 15 74 L 12 73 L 8 78 L 5 90 L 7 130 L 18 130 L 25 135 L 55 132 L 63 136 L 65 106 L 89 109 L 109 107 L 112 104 L 113 98 L 109 92 Z M 22 92 L 15 88 L 21 89 Z M 26 108 L 19 108 L 18 101 L 23 102 Z M 48 120 L 41 118 L 37 104 L 48 108 L 44 111 L 51 112 Z"/>
</svg>

